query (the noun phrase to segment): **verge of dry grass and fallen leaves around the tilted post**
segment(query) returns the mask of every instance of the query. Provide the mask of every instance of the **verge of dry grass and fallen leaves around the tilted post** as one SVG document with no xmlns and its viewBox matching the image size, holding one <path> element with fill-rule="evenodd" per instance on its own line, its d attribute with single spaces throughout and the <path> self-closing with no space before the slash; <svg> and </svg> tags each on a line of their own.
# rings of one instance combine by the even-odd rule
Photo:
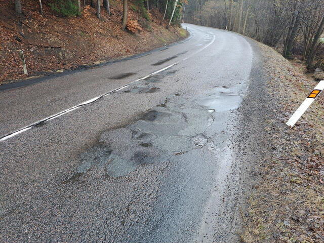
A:
<svg viewBox="0 0 324 243">
<path fill-rule="evenodd" d="M 273 111 L 262 144 L 268 156 L 244 215 L 242 242 L 324 242 L 324 94 L 293 129 L 285 123 L 317 82 L 261 45 L 271 77 Z"/>
</svg>

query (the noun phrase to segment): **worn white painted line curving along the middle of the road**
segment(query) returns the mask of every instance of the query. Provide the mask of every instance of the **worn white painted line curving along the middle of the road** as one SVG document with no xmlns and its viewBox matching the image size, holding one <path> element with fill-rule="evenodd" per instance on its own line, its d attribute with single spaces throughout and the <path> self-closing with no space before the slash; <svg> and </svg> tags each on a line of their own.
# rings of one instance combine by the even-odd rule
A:
<svg viewBox="0 0 324 243">
<path fill-rule="evenodd" d="M 209 47 L 210 45 L 212 45 L 212 44 L 214 43 L 215 39 L 216 39 L 216 36 L 215 36 L 214 34 L 213 34 L 213 36 L 214 36 L 214 37 L 213 37 L 213 40 L 212 40 L 208 45 L 206 45 L 204 48 L 201 48 L 201 49 L 199 49 L 198 51 L 192 53 L 192 54 L 189 55 L 188 57 L 186 57 L 186 58 L 180 60 L 179 62 L 182 62 L 182 61 L 184 61 L 184 60 L 187 60 L 188 58 L 192 57 L 193 55 L 195 55 L 195 54 L 197 54 L 197 53 L 203 51 L 205 48 L 207 48 L 207 47 Z M 12 137 L 14 137 L 14 136 L 20 134 L 20 133 L 23 133 L 23 132 L 25 132 L 25 131 L 31 129 L 31 128 L 34 127 L 34 126 L 43 123 L 44 121 L 52 120 L 52 119 L 57 118 L 57 117 L 59 117 L 59 116 L 61 116 L 61 115 L 63 115 L 63 114 L 69 113 L 69 112 L 71 112 L 72 110 L 76 110 L 76 109 L 78 109 L 78 108 L 80 108 L 80 107 L 82 107 L 82 106 L 84 106 L 84 105 L 87 105 L 87 104 L 90 104 L 90 103 L 96 102 L 96 101 L 99 100 L 100 98 L 102 98 L 102 97 L 106 97 L 106 96 L 110 95 L 110 94 L 113 93 L 113 92 L 116 92 L 116 91 L 119 91 L 119 90 L 123 90 L 123 89 L 127 88 L 130 84 L 136 83 L 136 82 L 138 82 L 138 81 L 140 81 L 140 80 L 143 80 L 143 79 L 145 79 L 145 78 L 148 78 L 148 77 L 150 77 L 150 76 L 152 76 L 152 75 L 154 75 L 154 74 L 157 74 L 157 73 L 159 73 L 159 72 L 161 72 L 161 71 L 164 71 L 164 70 L 166 70 L 166 69 L 169 69 L 169 68 L 173 67 L 174 65 L 177 65 L 179 62 L 173 63 L 173 64 L 171 64 L 171 65 L 169 65 L 169 66 L 167 66 L 167 67 L 164 67 L 164 68 L 161 68 L 161 69 L 159 69 L 159 70 L 157 70 L 157 71 L 155 71 L 155 72 L 152 72 L 152 73 L 150 73 L 150 74 L 148 74 L 148 75 L 146 75 L 146 76 L 144 76 L 144 77 L 141 77 L 141 78 L 139 78 L 139 79 L 136 79 L 136 80 L 132 81 L 131 83 L 129 83 L 128 85 L 124 85 L 124 86 L 122 86 L 122 87 L 120 87 L 120 88 L 117 88 L 117 89 L 115 89 L 115 90 L 113 90 L 113 91 L 109 91 L 108 93 L 105 93 L 105 94 L 103 94 L 103 95 L 97 96 L 97 97 L 95 97 L 95 98 L 92 98 L 92 99 L 90 99 L 90 100 L 88 100 L 88 101 L 85 101 L 85 102 L 83 102 L 83 103 L 80 103 L 80 104 L 78 104 L 78 105 L 72 106 L 71 108 L 68 108 L 68 109 L 66 109 L 66 110 L 60 111 L 59 113 L 56 113 L 56 114 L 51 115 L 51 116 L 48 116 L 48 117 L 46 117 L 46 118 L 44 118 L 44 119 L 42 119 L 42 120 L 38 120 L 38 121 L 36 121 L 35 123 L 33 123 L 33 124 L 31 124 L 31 125 L 28 125 L 28 126 L 23 127 L 23 128 L 21 128 L 21 129 L 15 131 L 15 132 L 12 132 L 12 133 L 10 133 L 10 134 L 7 134 L 7 135 L 5 135 L 4 137 L 1 137 L 1 138 L 0 138 L 0 142 L 3 142 L 3 141 L 5 141 L 5 140 L 7 140 L 7 139 L 9 139 L 9 138 L 12 138 Z"/>
</svg>

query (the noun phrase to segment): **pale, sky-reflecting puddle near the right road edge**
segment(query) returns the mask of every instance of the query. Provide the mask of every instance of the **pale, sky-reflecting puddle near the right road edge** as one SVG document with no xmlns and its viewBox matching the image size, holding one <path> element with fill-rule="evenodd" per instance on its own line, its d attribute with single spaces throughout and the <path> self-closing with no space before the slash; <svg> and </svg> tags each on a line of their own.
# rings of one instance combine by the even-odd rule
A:
<svg viewBox="0 0 324 243">
<path fill-rule="evenodd" d="M 237 109 L 242 102 L 242 97 L 236 94 L 218 92 L 208 98 L 198 100 L 199 105 L 208 107 L 208 112 L 222 112 Z"/>
</svg>

